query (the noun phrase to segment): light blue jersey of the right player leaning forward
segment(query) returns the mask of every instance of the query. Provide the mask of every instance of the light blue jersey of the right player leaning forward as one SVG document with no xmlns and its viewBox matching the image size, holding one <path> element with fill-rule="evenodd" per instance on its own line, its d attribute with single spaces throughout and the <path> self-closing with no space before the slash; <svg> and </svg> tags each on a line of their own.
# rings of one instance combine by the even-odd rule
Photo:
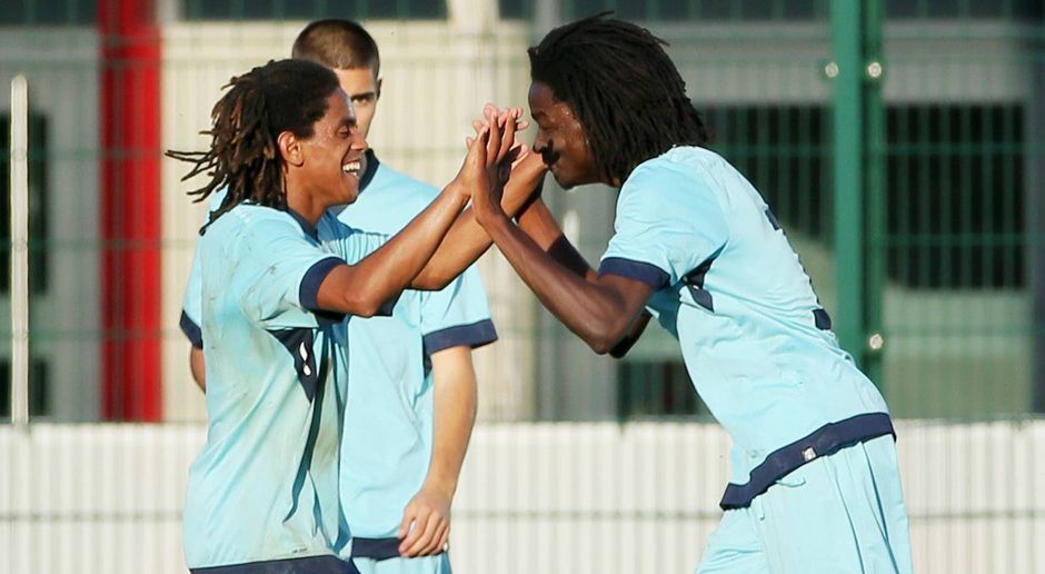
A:
<svg viewBox="0 0 1045 574">
<path fill-rule="evenodd" d="M 887 412 L 838 347 L 766 202 L 721 157 L 679 147 L 639 165 L 615 225 L 600 270 L 656 289 L 650 311 L 734 439 L 734 485 L 825 425 Z"/>
</svg>

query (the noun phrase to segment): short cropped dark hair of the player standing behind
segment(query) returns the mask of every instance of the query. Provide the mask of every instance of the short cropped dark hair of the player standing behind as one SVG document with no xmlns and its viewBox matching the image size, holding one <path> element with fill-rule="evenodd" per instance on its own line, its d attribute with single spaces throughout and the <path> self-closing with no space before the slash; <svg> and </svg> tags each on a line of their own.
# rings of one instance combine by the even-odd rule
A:
<svg viewBox="0 0 1045 574">
<path fill-rule="evenodd" d="M 306 26 L 293 41 L 290 57 L 327 68 L 370 68 L 375 77 L 381 71 L 377 42 L 351 20 L 317 20 Z"/>
</svg>

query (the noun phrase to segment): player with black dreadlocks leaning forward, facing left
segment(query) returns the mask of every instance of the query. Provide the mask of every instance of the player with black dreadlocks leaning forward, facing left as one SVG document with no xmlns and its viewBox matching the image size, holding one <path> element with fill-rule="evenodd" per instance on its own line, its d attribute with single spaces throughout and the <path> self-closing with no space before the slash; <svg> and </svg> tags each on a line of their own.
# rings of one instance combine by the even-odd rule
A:
<svg viewBox="0 0 1045 574">
<path fill-rule="evenodd" d="M 838 346 L 758 191 L 706 149 L 664 42 L 595 17 L 529 49 L 530 112 L 565 188 L 618 188 L 598 271 L 540 201 L 514 225 L 475 210 L 540 301 L 596 353 L 620 356 L 644 309 L 678 340 L 733 438 L 721 524 L 698 573 L 907 573 L 910 551 L 885 400 Z"/>
</svg>

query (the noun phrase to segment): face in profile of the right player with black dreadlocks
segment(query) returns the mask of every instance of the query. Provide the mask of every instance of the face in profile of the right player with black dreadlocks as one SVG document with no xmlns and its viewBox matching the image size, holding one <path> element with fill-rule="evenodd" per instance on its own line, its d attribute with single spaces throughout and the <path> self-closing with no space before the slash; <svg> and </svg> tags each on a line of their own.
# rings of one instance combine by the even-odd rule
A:
<svg viewBox="0 0 1045 574">
<path fill-rule="evenodd" d="M 539 81 L 530 85 L 529 105 L 537 123 L 534 150 L 555 180 L 565 189 L 600 181 L 584 127 L 569 105 L 557 100 L 551 88 Z"/>
</svg>

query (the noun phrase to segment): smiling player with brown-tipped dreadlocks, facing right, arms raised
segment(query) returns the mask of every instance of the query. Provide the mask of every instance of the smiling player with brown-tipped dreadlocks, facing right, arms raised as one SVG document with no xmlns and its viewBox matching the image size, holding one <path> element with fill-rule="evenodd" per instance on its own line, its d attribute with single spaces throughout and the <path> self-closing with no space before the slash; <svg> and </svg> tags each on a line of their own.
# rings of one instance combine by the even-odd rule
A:
<svg viewBox="0 0 1045 574">
<path fill-rule="evenodd" d="M 208 433 L 189 471 L 186 562 L 195 573 L 350 573 L 338 503 L 346 315 L 372 316 L 406 287 L 441 288 L 489 245 L 470 215 L 500 187 L 512 110 L 488 116 L 457 177 L 387 238 L 339 224 L 366 150 L 324 66 L 282 60 L 233 78 L 210 149 L 168 155 L 227 189 L 199 241 Z M 492 191 L 491 189 L 487 190 Z M 440 243 L 454 235 L 454 248 Z M 437 250 L 438 248 L 438 250 Z"/>
</svg>

